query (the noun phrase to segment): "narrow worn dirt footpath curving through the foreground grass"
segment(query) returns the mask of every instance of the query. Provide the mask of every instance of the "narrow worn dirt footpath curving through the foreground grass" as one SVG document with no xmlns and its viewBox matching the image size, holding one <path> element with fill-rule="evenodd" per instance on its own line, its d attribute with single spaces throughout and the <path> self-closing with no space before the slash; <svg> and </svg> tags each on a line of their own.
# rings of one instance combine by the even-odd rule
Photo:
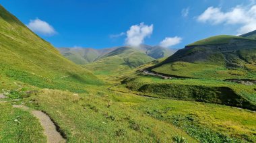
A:
<svg viewBox="0 0 256 143">
<path fill-rule="evenodd" d="M 24 105 L 13 105 L 13 107 L 24 109 L 26 111 L 30 110 L 28 107 Z M 32 110 L 31 113 L 36 118 L 38 118 L 42 128 L 44 128 L 44 135 L 47 137 L 48 143 L 66 142 L 65 139 L 61 136 L 61 134 L 57 131 L 55 124 L 48 115 L 46 115 L 42 111 L 36 110 Z"/>
</svg>

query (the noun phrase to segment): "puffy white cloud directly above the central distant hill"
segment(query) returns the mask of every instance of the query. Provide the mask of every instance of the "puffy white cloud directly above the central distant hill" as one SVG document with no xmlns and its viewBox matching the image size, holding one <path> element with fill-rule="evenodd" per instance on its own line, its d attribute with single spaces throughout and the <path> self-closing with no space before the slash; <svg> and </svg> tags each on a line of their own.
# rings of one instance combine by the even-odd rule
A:
<svg viewBox="0 0 256 143">
<path fill-rule="evenodd" d="M 125 44 L 129 46 L 139 46 L 143 44 L 144 39 L 149 37 L 153 32 L 153 24 L 150 26 L 140 23 L 139 25 L 131 26 L 127 31 Z"/>
</svg>

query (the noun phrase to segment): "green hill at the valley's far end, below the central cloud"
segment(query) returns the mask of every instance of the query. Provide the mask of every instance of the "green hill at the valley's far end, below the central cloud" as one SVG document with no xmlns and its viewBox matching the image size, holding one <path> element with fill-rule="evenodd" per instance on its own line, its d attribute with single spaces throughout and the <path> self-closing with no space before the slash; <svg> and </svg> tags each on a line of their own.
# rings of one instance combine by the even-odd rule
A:
<svg viewBox="0 0 256 143">
<path fill-rule="evenodd" d="M 116 75 L 146 64 L 154 58 L 129 47 L 121 47 L 86 65 L 96 75 Z"/>
</svg>

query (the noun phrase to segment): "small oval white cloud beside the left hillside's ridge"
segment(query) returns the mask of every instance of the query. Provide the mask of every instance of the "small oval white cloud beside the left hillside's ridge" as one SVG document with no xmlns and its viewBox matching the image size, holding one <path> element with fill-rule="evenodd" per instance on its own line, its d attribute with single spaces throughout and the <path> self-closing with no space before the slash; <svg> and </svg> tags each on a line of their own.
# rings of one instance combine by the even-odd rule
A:
<svg viewBox="0 0 256 143">
<path fill-rule="evenodd" d="M 43 34 L 46 36 L 52 36 L 54 34 L 57 34 L 53 26 L 51 26 L 46 21 L 42 21 L 38 18 L 34 20 L 30 20 L 30 23 L 28 23 L 28 28 L 32 30 L 33 32 L 36 32 L 38 34 Z"/>
</svg>

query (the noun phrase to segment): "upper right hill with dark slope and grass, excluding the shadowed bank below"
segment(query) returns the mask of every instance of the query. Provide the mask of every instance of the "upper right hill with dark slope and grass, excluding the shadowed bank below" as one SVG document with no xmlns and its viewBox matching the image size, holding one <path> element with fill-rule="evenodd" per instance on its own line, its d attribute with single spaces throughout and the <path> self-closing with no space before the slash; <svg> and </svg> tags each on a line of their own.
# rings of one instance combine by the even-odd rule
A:
<svg viewBox="0 0 256 143">
<path fill-rule="evenodd" d="M 189 44 L 150 69 L 183 77 L 254 79 L 255 64 L 255 40 L 214 36 Z"/>
</svg>

